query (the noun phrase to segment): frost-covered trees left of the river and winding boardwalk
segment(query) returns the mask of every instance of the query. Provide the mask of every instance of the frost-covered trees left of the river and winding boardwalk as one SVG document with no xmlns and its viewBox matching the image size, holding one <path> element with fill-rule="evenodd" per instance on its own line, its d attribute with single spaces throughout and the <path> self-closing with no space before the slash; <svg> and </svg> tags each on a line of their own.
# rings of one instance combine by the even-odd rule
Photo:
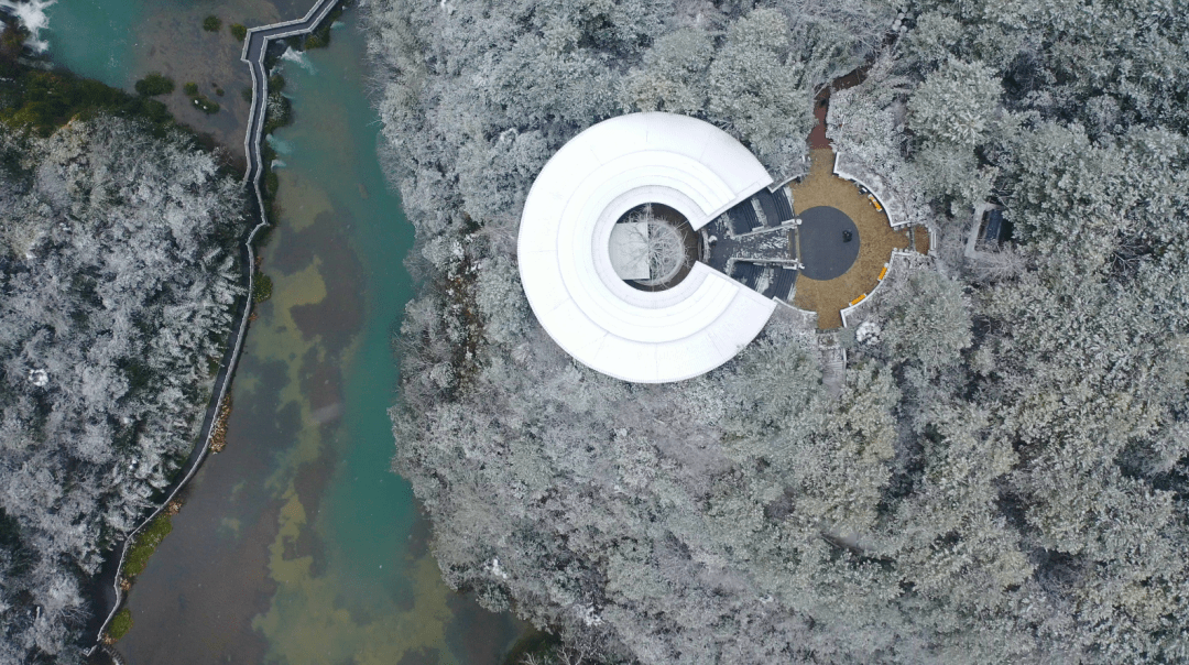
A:
<svg viewBox="0 0 1189 665">
<path fill-rule="evenodd" d="M 193 447 L 241 211 L 181 134 L 0 126 L 0 661 L 78 658 L 81 585 Z"/>
</svg>

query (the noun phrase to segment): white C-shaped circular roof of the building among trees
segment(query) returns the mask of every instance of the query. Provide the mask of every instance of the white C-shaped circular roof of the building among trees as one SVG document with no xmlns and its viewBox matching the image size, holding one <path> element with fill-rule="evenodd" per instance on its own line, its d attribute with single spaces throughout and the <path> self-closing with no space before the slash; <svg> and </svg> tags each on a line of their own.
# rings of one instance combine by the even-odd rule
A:
<svg viewBox="0 0 1189 665">
<path fill-rule="evenodd" d="M 769 183 L 755 156 L 702 120 L 634 113 L 587 128 L 549 159 L 524 201 L 520 274 L 533 312 L 566 352 L 624 381 L 717 368 L 776 303 L 700 262 L 671 289 L 634 289 L 611 265 L 611 230 L 649 202 L 697 230 Z"/>
</svg>

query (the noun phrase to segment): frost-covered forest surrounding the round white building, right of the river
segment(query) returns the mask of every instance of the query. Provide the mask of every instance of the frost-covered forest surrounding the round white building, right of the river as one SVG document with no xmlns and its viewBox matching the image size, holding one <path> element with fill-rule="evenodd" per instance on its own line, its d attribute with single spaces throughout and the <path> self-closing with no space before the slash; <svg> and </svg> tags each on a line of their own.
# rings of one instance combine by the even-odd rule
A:
<svg viewBox="0 0 1189 665">
<path fill-rule="evenodd" d="M 891 18 L 372 8 L 427 276 L 400 337 L 396 468 L 448 583 L 606 660 L 1189 659 L 1189 19 L 1151 0 L 927 1 L 882 42 Z M 511 240 L 566 138 L 663 108 L 779 174 L 817 86 L 864 54 L 828 136 L 940 252 L 872 297 L 839 400 L 780 318 L 671 385 L 610 379 L 549 340 Z M 1002 261 L 964 263 L 988 199 L 1014 237 Z"/>
</svg>

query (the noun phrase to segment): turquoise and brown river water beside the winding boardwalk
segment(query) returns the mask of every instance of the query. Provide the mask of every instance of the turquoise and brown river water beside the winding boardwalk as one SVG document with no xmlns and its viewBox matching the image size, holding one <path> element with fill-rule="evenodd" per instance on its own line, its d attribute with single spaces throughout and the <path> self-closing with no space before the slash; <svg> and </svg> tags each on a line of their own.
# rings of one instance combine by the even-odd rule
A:
<svg viewBox="0 0 1189 665">
<path fill-rule="evenodd" d="M 308 8 L 67 5 L 48 8 L 42 37 L 80 74 L 131 88 L 152 70 L 178 87 L 195 68 L 215 73 L 205 79 L 228 93 L 219 114 L 201 117 L 184 98 L 170 106 L 232 153 L 247 76 L 226 25 Z M 222 34 L 201 31 L 210 13 L 224 17 Z M 295 123 L 273 142 L 281 214 L 262 266 L 273 295 L 247 334 L 227 447 L 185 490 L 174 532 L 130 594 L 134 623 L 118 648 L 133 665 L 496 664 L 524 628 L 443 585 L 428 525 L 389 471 L 391 333 L 413 295 L 403 266 L 413 227 L 376 157 L 357 13 L 341 21 L 331 48 L 282 67 Z"/>
</svg>

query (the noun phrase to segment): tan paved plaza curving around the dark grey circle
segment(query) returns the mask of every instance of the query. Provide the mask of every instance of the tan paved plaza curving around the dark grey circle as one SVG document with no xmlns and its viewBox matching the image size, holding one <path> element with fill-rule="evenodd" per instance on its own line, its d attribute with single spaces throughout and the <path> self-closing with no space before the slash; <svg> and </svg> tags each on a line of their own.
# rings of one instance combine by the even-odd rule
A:
<svg viewBox="0 0 1189 665">
<path fill-rule="evenodd" d="M 861 245 L 850 270 L 828 281 L 811 280 L 804 274 L 797 278 L 793 305 L 817 312 L 818 327 L 842 327 L 842 309 L 875 289 L 883 268 L 892 258 L 892 250 L 908 250 L 912 239 L 908 230 L 895 231 L 888 218 L 868 201 L 850 181 L 833 175 L 833 151 L 810 151 L 810 175 L 789 184 L 793 211 L 797 214 L 817 206 L 830 206 L 845 213 L 858 227 Z"/>
</svg>

